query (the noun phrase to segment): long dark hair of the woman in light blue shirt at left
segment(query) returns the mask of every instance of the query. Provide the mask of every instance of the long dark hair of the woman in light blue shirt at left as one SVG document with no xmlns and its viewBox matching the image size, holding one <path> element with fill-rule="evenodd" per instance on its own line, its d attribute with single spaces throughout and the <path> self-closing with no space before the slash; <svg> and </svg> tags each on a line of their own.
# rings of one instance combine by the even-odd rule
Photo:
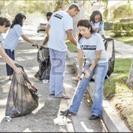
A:
<svg viewBox="0 0 133 133">
<path fill-rule="evenodd" d="M 14 26 L 15 24 L 19 24 L 20 26 L 23 26 L 22 21 L 23 21 L 24 18 L 26 19 L 26 16 L 25 16 L 24 14 L 18 13 L 18 14 L 15 16 L 15 18 L 14 18 L 14 20 L 13 20 L 13 22 L 12 22 L 11 28 L 13 28 L 13 26 Z"/>
</svg>

